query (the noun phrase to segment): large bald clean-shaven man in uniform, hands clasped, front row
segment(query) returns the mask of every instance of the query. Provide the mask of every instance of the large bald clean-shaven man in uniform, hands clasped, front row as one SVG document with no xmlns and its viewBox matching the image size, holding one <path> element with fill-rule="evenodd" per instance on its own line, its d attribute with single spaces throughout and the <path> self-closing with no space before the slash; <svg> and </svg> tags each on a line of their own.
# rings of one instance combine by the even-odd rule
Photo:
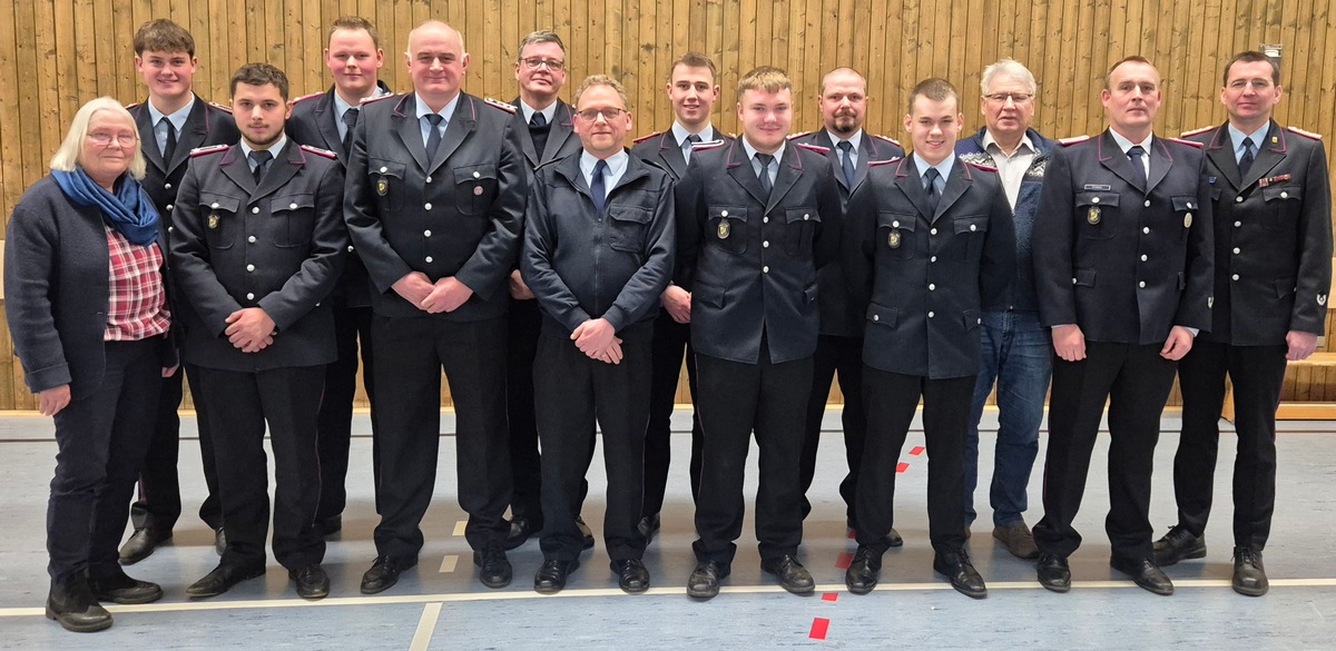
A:
<svg viewBox="0 0 1336 651">
<path fill-rule="evenodd" d="M 464 37 L 430 20 L 409 33 L 413 92 L 362 104 L 345 213 L 371 281 L 381 523 L 362 592 L 418 562 L 441 436 L 441 370 L 456 410 L 460 506 L 484 586 L 510 583 L 506 307 L 529 167 L 514 108 L 461 92 Z"/>
</svg>

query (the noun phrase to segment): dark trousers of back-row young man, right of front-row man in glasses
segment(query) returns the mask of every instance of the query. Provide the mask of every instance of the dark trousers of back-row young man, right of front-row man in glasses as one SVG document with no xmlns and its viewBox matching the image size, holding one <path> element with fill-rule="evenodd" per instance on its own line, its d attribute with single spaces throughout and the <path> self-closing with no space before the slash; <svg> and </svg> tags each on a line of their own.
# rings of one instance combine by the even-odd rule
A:
<svg viewBox="0 0 1336 651">
<path fill-rule="evenodd" d="M 687 467 L 691 500 L 700 492 L 700 416 L 696 414 L 696 364 L 691 348 L 691 324 L 677 323 L 667 309 L 659 311 L 651 347 L 652 378 L 649 382 L 649 428 L 645 431 L 645 503 L 640 515 L 649 518 L 663 511 L 668 488 L 668 466 L 672 460 L 672 410 L 677 404 L 677 382 L 681 379 L 683 352 L 687 359 L 687 387 L 691 391 L 691 462 Z"/>
</svg>

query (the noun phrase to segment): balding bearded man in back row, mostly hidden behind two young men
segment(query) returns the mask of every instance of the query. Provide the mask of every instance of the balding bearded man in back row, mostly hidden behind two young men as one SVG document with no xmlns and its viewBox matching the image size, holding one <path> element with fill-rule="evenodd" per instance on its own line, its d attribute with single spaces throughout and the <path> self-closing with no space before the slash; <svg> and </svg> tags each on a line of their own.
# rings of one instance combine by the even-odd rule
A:
<svg viewBox="0 0 1336 651">
<path fill-rule="evenodd" d="M 863 131 L 867 119 L 867 79 L 852 68 L 835 68 L 822 77 L 816 105 L 822 109 L 824 125 L 819 131 L 794 139 L 795 143 L 814 144 L 828 149 L 839 188 L 840 208 L 848 217 L 850 199 L 867 192 L 867 164 L 875 160 L 904 157 L 904 148 L 884 136 Z M 854 496 L 858 494 L 858 468 L 863 464 L 863 440 L 867 438 L 867 418 L 863 415 L 863 311 L 848 297 L 848 283 L 839 259 L 816 272 L 818 307 L 822 313 L 820 338 L 812 358 L 812 394 L 807 403 L 807 423 L 803 432 L 803 456 L 799 480 L 803 487 L 803 518 L 811 512 L 807 490 L 816 475 L 816 447 L 820 442 L 822 418 L 831 382 L 839 376 L 839 390 L 844 396 L 840 423 L 844 430 L 844 456 L 848 474 L 839 484 L 844 498 L 846 524 L 856 528 Z M 899 547 L 900 535 L 890 534 L 891 546 Z"/>
</svg>

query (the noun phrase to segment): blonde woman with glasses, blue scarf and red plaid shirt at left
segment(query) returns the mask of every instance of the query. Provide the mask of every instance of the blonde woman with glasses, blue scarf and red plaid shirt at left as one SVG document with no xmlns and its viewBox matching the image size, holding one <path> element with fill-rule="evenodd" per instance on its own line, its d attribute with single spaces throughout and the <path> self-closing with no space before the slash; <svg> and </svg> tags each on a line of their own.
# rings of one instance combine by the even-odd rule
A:
<svg viewBox="0 0 1336 651">
<path fill-rule="evenodd" d="M 111 97 L 92 100 L 51 175 L 15 205 L 5 240 L 15 352 L 37 410 L 56 426 L 47 616 L 77 632 L 111 626 L 99 602 L 162 598 L 116 563 L 154 430 L 156 378 L 176 367 L 158 211 L 143 176 L 135 121 Z"/>
</svg>

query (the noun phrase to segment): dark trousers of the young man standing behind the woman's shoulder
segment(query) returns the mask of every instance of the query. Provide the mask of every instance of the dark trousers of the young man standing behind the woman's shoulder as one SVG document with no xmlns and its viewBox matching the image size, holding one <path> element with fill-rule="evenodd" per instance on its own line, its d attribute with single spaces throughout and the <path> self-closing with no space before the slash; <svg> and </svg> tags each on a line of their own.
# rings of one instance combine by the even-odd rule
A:
<svg viewBox="0 0 1336 651">
<path fill-rule="evenodd" d="M 195 398 L 195 422 L 199 430 L 199 456 L 204 466 L 204 486 L 208 495 L 199 506 L 199 519 L 208 528 L 223 526 L 223 506 L 218 500 L 218 470 L 214 463 L 214 444 L 208 427 L 208 408 L 199 380 L 199 367 L 182 364 L 171 378 L 159 378 L 156 422 L 151 423 L 152 439 L 139 474 L 139 499 L 130 507 L 130 520 L 136 530 L 151 528 L 170 532 L 180 518 L 180 479 L 176 475 L 176 460 L 180 454 L 180 416 L 178 410 L 183 398 L 182 376 L 190 383 L 190 395 Z"/>
</svg>

